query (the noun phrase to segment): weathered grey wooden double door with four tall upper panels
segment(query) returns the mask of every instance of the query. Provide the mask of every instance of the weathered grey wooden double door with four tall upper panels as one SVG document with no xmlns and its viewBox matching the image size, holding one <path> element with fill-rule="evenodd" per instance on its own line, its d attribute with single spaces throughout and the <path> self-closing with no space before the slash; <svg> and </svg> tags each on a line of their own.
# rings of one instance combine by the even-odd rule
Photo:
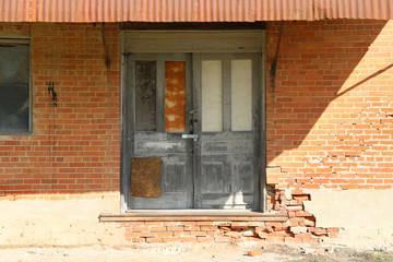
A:
<svg viewBox="0 0 393 262">
<path fill-rule="evenodd" d="M 127 58 L 126 156 L 163 160 L 159 195 L 130 196 L 129 209 L 258 207 L 259 57 Z"/>
</svg>

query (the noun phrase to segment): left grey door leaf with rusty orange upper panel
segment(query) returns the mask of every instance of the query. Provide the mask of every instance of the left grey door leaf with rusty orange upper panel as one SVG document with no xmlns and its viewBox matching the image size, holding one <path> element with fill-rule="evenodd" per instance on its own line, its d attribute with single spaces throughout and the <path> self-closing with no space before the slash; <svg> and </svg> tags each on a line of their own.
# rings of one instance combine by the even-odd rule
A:
<svg viewBox="0 0 393 262">
<path fill-rule="evenodd" d="M 182 139 L 182 134 L 190 132 L 187 124 L 187 111 L 192 107 L 190 56 L 131 55 L 128 70 L 129 100 L 133 104 L 126 117 L 126 121 L 131 122 L 129 155 L 132 159 L 146 159 L 147 163 L 131 166 L 133 176 L 142 172 L 138 179 L 146 180 L 131 178 L 131 183 L 146 188 L 135 188 L 142 192 L 135 195 L 131 187 L 128 206 L 136 210 L 192 207 L 192 141 Z M 148 164 L 150 159 L 152 163 L 162 159 L 162 171 L 156 170 L 160 178 L 153 188 L 148 186 L 152 177 L 143 176 L 153 165 Z M 141 170 L 135 170 L 138 168 Z M 154 191 L 153 194 L 148 190 Z"/>
</svg>

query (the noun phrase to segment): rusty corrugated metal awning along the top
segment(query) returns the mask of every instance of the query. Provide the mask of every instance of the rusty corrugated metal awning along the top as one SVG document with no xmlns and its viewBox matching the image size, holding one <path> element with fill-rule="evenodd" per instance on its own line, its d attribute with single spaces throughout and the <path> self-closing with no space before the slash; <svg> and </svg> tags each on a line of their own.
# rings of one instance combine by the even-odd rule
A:
<svg viewBox="0 0 393 262">
<path fill-rule="evenodd" d="M 393 0 L 0 0 L 0 22 L 393 19 Z"/>
</svg>

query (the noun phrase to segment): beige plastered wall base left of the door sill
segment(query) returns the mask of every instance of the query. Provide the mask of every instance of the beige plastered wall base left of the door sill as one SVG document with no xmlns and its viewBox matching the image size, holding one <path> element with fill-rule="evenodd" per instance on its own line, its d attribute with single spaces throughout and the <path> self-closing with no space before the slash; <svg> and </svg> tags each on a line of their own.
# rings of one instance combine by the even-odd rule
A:
<svg viewBox="0 0 393 262">
<path fill-rule="evenodd" d="M 100 213 L 119 213 L 119 195 L 76 200 L 0 201 L 0 247 L 119 245 L 124 228 L 99 223 Z"/>
</svg>

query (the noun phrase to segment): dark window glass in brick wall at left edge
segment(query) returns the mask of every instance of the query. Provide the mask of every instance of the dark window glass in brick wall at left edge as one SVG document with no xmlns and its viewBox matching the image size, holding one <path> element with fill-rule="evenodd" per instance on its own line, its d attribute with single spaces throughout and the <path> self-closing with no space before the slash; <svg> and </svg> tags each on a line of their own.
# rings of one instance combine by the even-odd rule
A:
<svg viewBox="0 0 393 262">
<path fill-rule="evenodd" d="M 29 131 L 29 47 L 0 44 L 0 132 Z"/>
</svg>

